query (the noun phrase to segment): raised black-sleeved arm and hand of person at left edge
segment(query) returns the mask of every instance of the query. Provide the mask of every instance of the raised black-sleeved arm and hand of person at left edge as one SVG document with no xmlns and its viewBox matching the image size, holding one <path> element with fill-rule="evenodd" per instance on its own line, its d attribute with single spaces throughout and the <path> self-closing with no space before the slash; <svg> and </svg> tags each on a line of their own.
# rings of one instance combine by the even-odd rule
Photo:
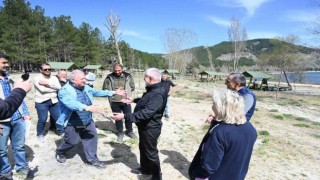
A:
<svg viewBox="0 0 320 180">
<path fill-rule="evenodd" d="M 31 90 L 30 81 L 19 81 L 14 84 L 10 96 L 0 99 L 0 120 L 10 118 L 21 105 L 27 92 Z"/>
</svg>

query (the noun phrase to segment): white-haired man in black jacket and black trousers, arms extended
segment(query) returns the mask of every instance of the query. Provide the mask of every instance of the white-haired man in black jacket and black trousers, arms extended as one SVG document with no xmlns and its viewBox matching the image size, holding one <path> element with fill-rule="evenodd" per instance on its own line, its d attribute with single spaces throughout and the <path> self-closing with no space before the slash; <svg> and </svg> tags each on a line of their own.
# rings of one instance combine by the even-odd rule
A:
<svg viewBox="0 0 320 180">
<path fill-rule="evenodd" d="M 161 83 L 161 73 L 156 68 L 147 69 L 144 76 L 146 90 L 143 96 L 126 103 L 137 103 L 134 112 L 115 114 L 114 120 L 128 120 L 136 123 L 139 132 L 140 168 L 132 170 L 136 174 L 152 174 L 153 180 L 161 178 L 157 141 L 161 134 L 161 118 L 167 103 L 167 91 Z"/>
</svg>

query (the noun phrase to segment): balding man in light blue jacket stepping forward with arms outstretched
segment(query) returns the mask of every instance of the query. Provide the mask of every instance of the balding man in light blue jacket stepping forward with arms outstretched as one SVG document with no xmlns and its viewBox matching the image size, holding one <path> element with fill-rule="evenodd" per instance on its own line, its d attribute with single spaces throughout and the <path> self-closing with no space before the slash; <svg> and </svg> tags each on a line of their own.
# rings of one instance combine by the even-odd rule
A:
<svg viewBox="0 0 320 180">
<path fill-rule="evenodd" d="M 98 134 L 92 119 L 92 113 L 100 112 L 102 108 L 92 105 L 92 100 L 96 96 L 125 96 L 125 92 L 96 90 L 86 85 L 86 81 L 82 71 L 74 70 L 69 76 L 69 82 L 59 90 L 61 115 L 57 126 L 65 127 L 65 135 L 63 142 L 56 149 L 56 159 L 60 163 L 65 163 L 65 153 L 81 139 L 89 165 L 103 169 L 106 165 L 97 157 Z"/>
</svg>

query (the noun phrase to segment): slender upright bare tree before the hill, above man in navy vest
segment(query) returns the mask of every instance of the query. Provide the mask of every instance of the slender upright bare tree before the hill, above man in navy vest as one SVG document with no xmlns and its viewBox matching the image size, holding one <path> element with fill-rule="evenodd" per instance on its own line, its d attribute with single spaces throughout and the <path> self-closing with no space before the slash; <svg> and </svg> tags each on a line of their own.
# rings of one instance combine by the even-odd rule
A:
<svg viewBox="0 0 320 180">
<path fill-rule="evenodd" d="M 237 71 L 241 53 L 246 48 L 247 32 L 245 28 L 241 27 L 240 21 L 235 17 L 232 17 L 230 20 L 228 36 L 232 47 L 231 60 L 233 61 L 233 71 Z"/>
</svg>

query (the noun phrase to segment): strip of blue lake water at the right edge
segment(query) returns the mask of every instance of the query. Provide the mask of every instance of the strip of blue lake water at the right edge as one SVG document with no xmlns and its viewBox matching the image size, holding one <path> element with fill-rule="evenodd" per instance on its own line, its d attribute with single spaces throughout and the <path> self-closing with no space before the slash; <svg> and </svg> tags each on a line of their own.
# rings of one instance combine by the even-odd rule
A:
<svg viewBox="0 0 320 180">
<path fill-rule="evenodd" d="M 279 79 L 279 75 L 274 75 L 275 79 Z M 302 74 L 289 73 L 288 78 L 293 83 L 303 84 L 320 84 L 320 72 L 304 72 Z M 281 81 L 285 81 L 283 74 L 281 75 Z"/>
</svg>

